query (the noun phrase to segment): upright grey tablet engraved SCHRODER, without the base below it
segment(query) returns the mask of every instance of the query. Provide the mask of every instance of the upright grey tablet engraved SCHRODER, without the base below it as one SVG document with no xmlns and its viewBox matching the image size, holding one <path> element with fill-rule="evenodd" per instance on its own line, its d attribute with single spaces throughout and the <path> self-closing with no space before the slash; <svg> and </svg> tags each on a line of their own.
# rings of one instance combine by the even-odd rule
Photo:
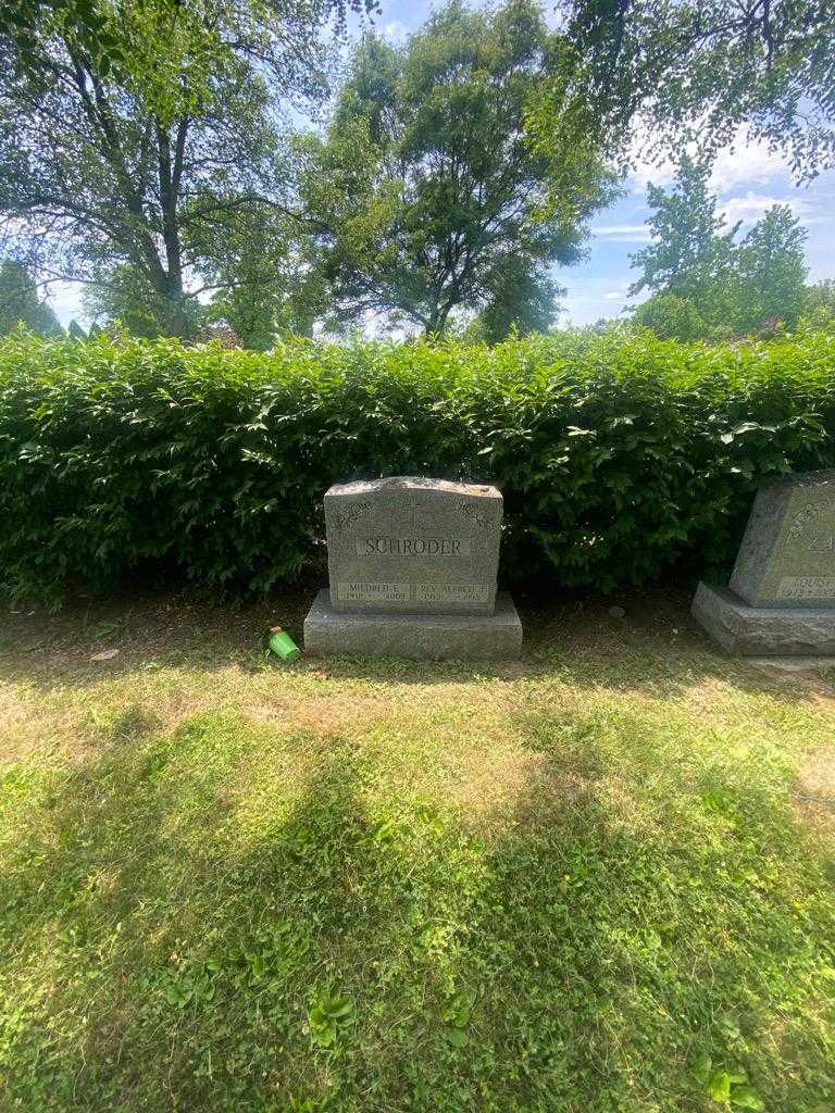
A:
<svg viewBox="0 0 835 1113">
<path fill-rule="evenodd" d="M 325 494 L 337 611 L 492 614 L 501 492 L 416 475 L 337 483 Z"/>
</svg>

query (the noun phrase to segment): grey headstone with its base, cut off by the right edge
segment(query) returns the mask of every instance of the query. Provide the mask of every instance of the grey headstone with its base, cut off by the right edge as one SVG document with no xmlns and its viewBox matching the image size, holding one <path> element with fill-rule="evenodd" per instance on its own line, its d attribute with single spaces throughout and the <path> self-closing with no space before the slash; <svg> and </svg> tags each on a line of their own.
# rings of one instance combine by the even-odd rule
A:
<svg viewBox="0 0 835 1113">
<path fill-rule="evenodd" d="M 835 653 L 835 471 L 765 483 L 729 587 L 700 583 L 692 612 L 734 653 Z"/>
</svg>

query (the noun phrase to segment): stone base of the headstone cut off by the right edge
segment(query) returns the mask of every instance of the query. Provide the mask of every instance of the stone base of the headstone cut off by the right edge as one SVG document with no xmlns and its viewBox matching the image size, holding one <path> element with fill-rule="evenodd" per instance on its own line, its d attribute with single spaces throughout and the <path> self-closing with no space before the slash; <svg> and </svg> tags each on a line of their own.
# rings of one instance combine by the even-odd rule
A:
<svg viewBox="0 0 835 1113">
<path fill-rule="evenodd" d="M 729 588 L 700 583 L 692 617 L 740 657 L 835 657 L 835 608 L 752 607 Z"/>
</svg>

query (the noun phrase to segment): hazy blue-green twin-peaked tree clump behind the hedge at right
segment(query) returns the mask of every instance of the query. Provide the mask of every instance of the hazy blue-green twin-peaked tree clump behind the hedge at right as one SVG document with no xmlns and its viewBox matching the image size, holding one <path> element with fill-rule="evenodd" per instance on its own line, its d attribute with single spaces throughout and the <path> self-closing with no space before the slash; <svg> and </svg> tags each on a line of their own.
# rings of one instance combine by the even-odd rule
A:
<svg viewBox="0 0 835 1113">
<path fill-rule="evenodd" d="M 639 306 L 638 323 L 681 339 L 692 338 L 699 322 L 700 335 L 797 326 L 806 296 L 806 230 L 789 206 L 769 208 L 737 243 L 739 223 L 723 230 L 707 167 L 687 157 L 674 189 L 649 186 L 648 200 L 652 243 L 631 256 L 642 275 L 629 293 L 649 289 L 656 297 Z"/>
</svg>

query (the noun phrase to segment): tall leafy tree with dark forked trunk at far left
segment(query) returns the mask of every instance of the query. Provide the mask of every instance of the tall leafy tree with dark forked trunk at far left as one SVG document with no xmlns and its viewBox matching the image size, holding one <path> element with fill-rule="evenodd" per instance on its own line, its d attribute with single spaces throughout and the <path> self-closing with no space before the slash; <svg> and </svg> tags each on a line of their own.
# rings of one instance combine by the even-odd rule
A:
<svg viewBox="0 0 835 1113">
<path fill-rule="evenodd" d="M 371 0 L 14 2 L 26 33 L 0 39 L 7 234 L 46 277 L 116 280 L 147 295 L 154 328 L 189 335 L 199 286 L 236 282 L 205 254 L 207 229 L 291 213 L 277 115 L 324 95 L 321 29 Z"/>
</svg>

